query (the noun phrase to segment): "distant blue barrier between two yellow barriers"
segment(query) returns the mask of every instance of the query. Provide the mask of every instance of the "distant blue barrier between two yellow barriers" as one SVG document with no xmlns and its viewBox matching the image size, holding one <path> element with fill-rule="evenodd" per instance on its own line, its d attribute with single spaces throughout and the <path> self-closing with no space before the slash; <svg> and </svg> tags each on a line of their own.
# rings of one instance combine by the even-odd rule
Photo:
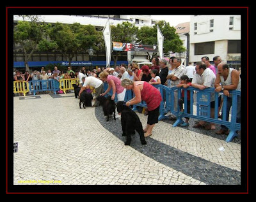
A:
<svg viewBox="0 0 256 202">
<path fill-rule="evenodd" d="M 34 96 L 36 92 L 56 91 L 60 89 L 60 83 L 55 79 L 49 80 L 31 80 L 29 81 L 29 90 L 33 92 Z"/>
</svg>

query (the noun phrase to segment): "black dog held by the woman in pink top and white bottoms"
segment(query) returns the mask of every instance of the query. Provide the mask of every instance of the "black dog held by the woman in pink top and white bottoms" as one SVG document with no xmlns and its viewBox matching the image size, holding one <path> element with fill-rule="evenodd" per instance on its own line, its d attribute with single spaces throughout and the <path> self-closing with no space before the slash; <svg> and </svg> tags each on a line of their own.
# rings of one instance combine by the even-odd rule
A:
<svg viewBox="0 0 256 202">
<path fill-rule="evenodd" d="M 109 121 L 109 115 L 112 115 L 113 112 L 114 119 L 116 120 L 116 103 L 111 99 L 111 96 L 99 96 L 96 99 L 100 102 L 100 105 L 102 105 L 104 116 L 108 116 L 107 121 Z"/>
</svg>

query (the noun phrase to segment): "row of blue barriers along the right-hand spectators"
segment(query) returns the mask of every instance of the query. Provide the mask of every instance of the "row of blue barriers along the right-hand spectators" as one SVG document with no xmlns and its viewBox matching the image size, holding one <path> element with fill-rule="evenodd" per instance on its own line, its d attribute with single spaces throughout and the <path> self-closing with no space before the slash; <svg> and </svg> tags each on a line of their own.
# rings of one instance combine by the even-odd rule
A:
<svg viewBox="0 0 256 202">
<path fill-rule="evenodd" d="M 237 136 L 236 131 L 241 130 L 241 124 L 237 122 L 237 105 L 241 105 L 241 103 L 237 100 L 241 99 L 241 91 L 239 90 L 229 90 L 230 94 L 232 94 L 232 110 L 230 120 L 226 120 L 229 117 L 227 114 L 227 96 L 223 96 L 223 106 L 222 106 L 222 120 L 218 119 L 218 104 L 220 96 L 219 92 L 215 92 L 213 88 L 207 88 L 204 90 L 199 90 L 194 87 L 178 88 L 178 87 L 166 87 L 165 85 L 154 85 L 160 92 L 162 96 L 162 101 L 160 104 L 159 117 L 158 120 L 168 119 L 168 116 L 165 116 L 165 113 L 172 112 L 173 115 L 177 116 L 176 122 L 173 124 L 173 127 L 179 126 L 183 122 L 182 117 L 189 117 L 198 120 L 204 120 L 206 122 L 212 122 L 215 124 L 220 124 L 228 127 L 230 129 L 230 133 L 228 134 L 226 141 L 230 142 L 233 140 L 235 136 Z M 104 91 L 108 89 L 108 83 L 104 83 Z M 178 114 L 180 112 L 179 108 L 179 99 L 181 97 L 181 90 L 184 90 L 184 113 L 179 117 Z M 188 94 L 190 92 L 190 113 L 188 113 Z M 194 92 L 196 92 L 196 100 L 194 101 Z M 112 89 L 108 92 L 108 95 L 112 96 Z M 134 95 L 132 94 L 132 90 L 126 90 L 125 93 L 125 101 L 129 101 L 132 99 Z M 214 118 L 211 118 L 211 96 L 214 96 Z M 115 96 L 115 102 L 117 101 L 117 96 Z M 175 103 L 176 102 L 176 103 Z M 175 105 L 177 104 L 177 105 Z M 196 112 L 194 112 L 193 106 L 196 106 Z M 136 110 L 137 106 L 142 106 L 147 108 L 147 104 L 145 101 L 141 101 L 137 105 L 133 105 L 132 110 Z"/>
</svg>

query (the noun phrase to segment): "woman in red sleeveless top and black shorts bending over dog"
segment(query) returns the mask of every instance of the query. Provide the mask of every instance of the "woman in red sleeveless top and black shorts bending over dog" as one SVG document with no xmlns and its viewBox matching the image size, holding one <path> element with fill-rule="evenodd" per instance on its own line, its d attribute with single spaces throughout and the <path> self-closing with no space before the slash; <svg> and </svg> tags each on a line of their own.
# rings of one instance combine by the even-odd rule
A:
<svg viewBox="0 0 256 202">
<path fill-rule="evenodd" d="M 129 78 L 122 80 L 122 86 L 127 90 L 132 90 L 135 96 L 127 101 L 126 106 L 131 106 L 140 103 L 142 100 L 147 103 L 148 120 L 144 131 L 144 136 L 152 135 L 152 129 L 158 123 L 159 109 L 162 101 L 161 93 L 158 89 L 147 82 L 133 82 Z"/>
</svg>

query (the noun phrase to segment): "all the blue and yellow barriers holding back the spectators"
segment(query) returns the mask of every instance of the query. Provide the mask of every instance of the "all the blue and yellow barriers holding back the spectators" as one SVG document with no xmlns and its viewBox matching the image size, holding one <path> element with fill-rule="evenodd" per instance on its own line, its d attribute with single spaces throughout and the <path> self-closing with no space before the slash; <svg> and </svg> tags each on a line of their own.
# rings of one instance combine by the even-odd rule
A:
<svg viewBox="0 0 256 202">
<path fill-rule="evenodd" d="M 60 83 L 57 80 L 32 80 L 29 82 L 24 81 L 14 81 L 13 82 L 13 92 L 19 93 L 22 92 L 24 96 L 26 92 L 33 92 L 35 95 L 36 92 L 42 91 L 53 91 L 56 94 L 56 91 L 61 89 L 65 92 L 65 90 L 74 89 L 72 87 L 72 83 L 76 83 L 78 79 L 63 79 L 60 80 Z M 177 116 L 176 122 L 173 124 L 173 127 L 178 126 L 182 123 L 182 117 L 190 117 L 193 119 L 204 120 L 207 122 L 212 122 L 215 124 L 220 124 L 228 127 L 230 129 L 230 133 L 226 139 L 227 142 L 232 141 L 232 139 L 237 136 L 236 131 L 241 130 L 240 121 L 237 120 L 237 106 L 241 106 L 241 91 L 239 90 L 229 90 L 232 98 L 223 96 L 223 106 L 222 106 L 222 120 L 218 119 L 219 112 L 219 92 L 215 92 L 213 88 L 207 88 L 204 90 L 199 90 L 193 87 L 178 88 L 178 87 L 166 87 L 165 85 L 154 85 L 162 96 L 162 101 L 160 104 L 159 117 L 158 120 L 168 119 L 164 114 L 168 112 L 172 112 Z M 108 83 L 104 83 L 104 91 L 108 89 Z M 181 97 L 181 90 L 184 90 L 184 113 L 179 117 L 178 114 L 180 112 L 179 108 L 179 99 Z M 188 113 L 188 91 L 190 92 L 190 112 Z M 195 94 L 196 92 L 196 94 Z M 112 95 L 112 89 L 108 92 L 108 95 Z M 132 90 L 126 90 L 125 100 L 129 101 L 133 97 Z M 214 96 L 214 117 L 211 117 L 211 96 Z M 195 99 L 194 99 L 195 98 Z M 231 103 L 231 113 L 227 114 L 227 108 L 230 108 L 230 103 L 228 104 L 228 99 L 232 99 Z M 115 96 L 115 102 L 117 101 L 117 96 Z M 176 102 L 176 103 L 175 103 Z M 177 105 L 175 105 L 177 104 Z M 147 104 L 142 101 L 137 105 L 134 105 L 132 110 L 136 110 L 137 106 L 142 106 L 147 108 Z M 194 108 L 194 106 L 196 106 Z M 194 110 L 195 109 L 195 110 Z M 196 111 L 196 112 L 195 112 Z M 240 111 L 238 112 L 240 113 Z M 228 118 L 228 119 L 227 119 Z"/>
</svg>

